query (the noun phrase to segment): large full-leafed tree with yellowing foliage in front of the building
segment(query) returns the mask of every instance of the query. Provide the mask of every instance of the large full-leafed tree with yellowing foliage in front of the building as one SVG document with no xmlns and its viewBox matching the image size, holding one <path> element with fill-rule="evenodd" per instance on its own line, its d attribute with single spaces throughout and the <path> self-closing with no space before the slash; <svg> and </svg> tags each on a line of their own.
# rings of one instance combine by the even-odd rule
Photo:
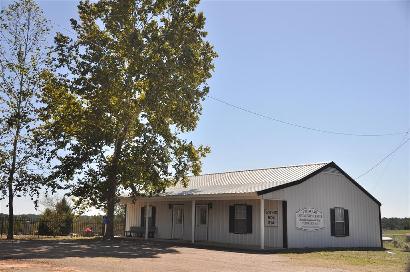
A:
<svg viewBox="0 0 410 272">
<path fill-rule="evenodd" d="M 42 114 L 58 150 L 54 178 L 78 203 L 106 210 L 106 238 L 120 190 L 136 197 L 186 184 L 209 152 L 183 137 L 197 125 L 217 56 L 198 3 L 82 1 L 76 37 L 55 37 Z"/>
</svg>

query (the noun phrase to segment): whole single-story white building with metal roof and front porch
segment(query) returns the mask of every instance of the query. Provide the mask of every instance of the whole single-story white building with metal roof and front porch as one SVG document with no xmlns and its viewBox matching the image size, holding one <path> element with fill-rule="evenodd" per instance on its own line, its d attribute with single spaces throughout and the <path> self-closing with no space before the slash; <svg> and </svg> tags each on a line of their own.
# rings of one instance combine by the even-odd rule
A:
<svg viewBox="0 0 410 272">
<path fill-rule="evenodd" d="M 122 203 L 130 236 L 262 249 L 382 247 L 380 202 L 334 162 L 190 177 L 187 187 Z"/>
</svg>

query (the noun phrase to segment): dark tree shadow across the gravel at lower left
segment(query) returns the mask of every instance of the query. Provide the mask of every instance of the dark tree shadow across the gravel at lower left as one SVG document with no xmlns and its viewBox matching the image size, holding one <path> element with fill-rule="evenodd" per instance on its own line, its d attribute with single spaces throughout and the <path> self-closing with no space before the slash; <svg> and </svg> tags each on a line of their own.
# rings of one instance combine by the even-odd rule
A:
<svg viewBox="0 0 410 272">
<path fill-rule="evenodd" d="M 0 241 L 0 259 L 60 259 L 67 257 L 157 258 L 179 253 L 167 243 L 143 240 L 95 239 Z"/>
</svg>

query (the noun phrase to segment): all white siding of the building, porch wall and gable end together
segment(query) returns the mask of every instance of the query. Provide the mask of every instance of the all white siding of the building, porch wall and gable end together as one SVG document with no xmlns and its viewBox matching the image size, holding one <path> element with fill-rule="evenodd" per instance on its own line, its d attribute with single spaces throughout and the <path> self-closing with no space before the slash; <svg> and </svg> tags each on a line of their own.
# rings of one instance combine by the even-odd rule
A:
<svg viewBox="0 0 410 272">
<path fill-rule="evenodd" d="M 304 247 L 380 247 L 379 206 L 357 186 L 336 169 L 327 169 L 318 175 L 282 190 L 263 195 L 265 209 L 278 211 L 278 227 L 265 227 L 265 247 L 283 247 L 282 200 L 287 201 L 287 232 L 289 248 Z M 197 200 L 196 204 L 212 204 L 209 209 L 208 240 L 223 244 L 260 245 L 260 200 Z M 157 201 L 157 237 L 171 239 L 172 209 L 169 204 L 184 206 L 184 236 L 191 240 L 191 201 Z M 252 205 L 252 233 L 229 233 L 229 206 L 233 204 Z M 143 202 L 128 202 L 126 229 L 140 225 L 140 211 Z M 323 212 L 325 227 L 308 232 L 296 229 L 295 213 L 300 208 L 311 207 Z M 330 234 L 330 209 L 343 207 L 349 210 L 347 237 Z"/>
</svg>

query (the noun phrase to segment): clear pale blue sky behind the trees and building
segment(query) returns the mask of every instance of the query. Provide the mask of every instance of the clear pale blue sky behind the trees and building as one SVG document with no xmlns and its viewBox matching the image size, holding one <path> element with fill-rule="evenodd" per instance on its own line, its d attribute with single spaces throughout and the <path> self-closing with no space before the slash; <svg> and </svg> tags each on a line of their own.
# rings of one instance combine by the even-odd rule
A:
<svg viewBox="0 0 410 272">
<path fill-rule="evenodd" d="M 72 35 L 75 1 L 39 4 L 54 31 Z M 219 54 L 208 82 L 212 97 L 318 129 L 409 130 L 409 1 L 203 1 L 199 10 Z M 187 135 L 211 147 L 204 173 L 334 161 L 353 178 L 409 136 L 325 134 L 209 98 Z M 409 217 L 410 142 L 356 180 L 380 200 L 383 217 Z M 16 200 L 16 213 L 39 211 L 27 199 Z"/>
</svg>

